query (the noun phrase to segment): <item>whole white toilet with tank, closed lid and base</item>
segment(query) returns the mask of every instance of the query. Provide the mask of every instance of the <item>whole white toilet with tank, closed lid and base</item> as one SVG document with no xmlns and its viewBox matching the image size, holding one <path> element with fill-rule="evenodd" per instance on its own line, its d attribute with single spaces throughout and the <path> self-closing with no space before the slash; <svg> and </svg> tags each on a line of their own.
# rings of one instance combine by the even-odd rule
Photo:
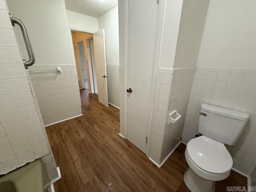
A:
<svg viewBox="0 0 256 192">
<path fill-rule="evenodd" d="M 226 179 L 233 160 L 224 146 L 234 145 L 249 115 L 230 109 L 202 104 L 198 132 L 202 136 L 190 140 L 185 157 L 188 168 L 184 182 L 192 192 L 214 192 L 215 181 Z"/>
</svg>

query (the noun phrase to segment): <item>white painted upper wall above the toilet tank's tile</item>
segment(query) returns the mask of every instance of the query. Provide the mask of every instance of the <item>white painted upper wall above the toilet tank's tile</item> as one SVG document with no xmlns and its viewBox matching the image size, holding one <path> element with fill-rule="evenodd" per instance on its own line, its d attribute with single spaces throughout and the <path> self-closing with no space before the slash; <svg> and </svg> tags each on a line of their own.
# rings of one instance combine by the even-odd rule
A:
<svg viewBox="0 0 256 192">
<path fill-rule="evenodd" d="M 255 68 L 256 1 L 211 0 L 197 66 Z"/>
</svg>

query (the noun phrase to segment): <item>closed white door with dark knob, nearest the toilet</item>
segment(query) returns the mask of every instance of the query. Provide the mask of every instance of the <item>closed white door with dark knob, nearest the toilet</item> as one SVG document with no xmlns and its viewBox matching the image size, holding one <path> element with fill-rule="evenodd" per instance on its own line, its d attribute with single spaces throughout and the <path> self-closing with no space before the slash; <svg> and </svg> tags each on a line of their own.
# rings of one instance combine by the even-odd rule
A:
<svg viewBox="0 0 256 192">
<path fill-rule="evenodd" d="M 156 36 L 156 0 L 128 1 L 127 139 L 146 153 Z"/>
</svg>

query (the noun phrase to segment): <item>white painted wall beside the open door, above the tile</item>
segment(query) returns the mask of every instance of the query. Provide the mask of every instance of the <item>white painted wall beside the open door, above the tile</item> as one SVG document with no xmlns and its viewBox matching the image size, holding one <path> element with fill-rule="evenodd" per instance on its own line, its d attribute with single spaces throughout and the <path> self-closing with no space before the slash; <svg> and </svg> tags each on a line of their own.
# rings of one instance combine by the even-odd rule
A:
<svg viewBox="0 0 256 192">
<path fill-rule="evenodd" d="M 105 29 L 107 63 L 119 64 L 118 6 L 98 18 L 98 28 Z"/>
</svg>

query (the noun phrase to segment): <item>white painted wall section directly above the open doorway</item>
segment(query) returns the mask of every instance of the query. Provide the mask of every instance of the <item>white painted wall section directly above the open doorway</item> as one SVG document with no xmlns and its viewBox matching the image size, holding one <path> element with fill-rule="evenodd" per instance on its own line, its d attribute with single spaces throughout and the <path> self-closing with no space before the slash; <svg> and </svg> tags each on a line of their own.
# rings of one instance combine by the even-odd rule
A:
<svg viewBox="0 0 256 192">
<path fill-rule="evenodd" d="M 68 26 L 71 30 L 94 33 L 98 31 L 98 19 L 84 14 L 66 10 Z"/>
</svg>

